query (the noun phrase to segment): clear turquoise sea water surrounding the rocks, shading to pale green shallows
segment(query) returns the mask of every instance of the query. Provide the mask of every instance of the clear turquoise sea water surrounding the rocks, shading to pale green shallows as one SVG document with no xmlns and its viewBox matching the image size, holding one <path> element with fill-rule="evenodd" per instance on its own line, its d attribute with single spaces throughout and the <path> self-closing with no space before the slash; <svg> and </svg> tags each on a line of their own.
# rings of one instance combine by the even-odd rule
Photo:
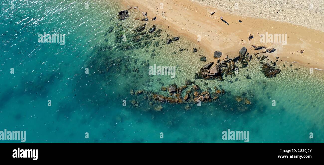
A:
<svg viewBox="0 0 324 165">
<path fill-rule="evenodd" d="M 266 78 L 259 61 L 252 60 L 249 71 L 242 69 L 237 77 L 196 80 L 203 90 L 225 89 L 219 102 L 190 105 L 190 111 L 163 104 L 157 112 L 130 89 L 161 92 L 161 86 L 193 81 L 194 73 L 213 61 L 201 62 L 198 54 L 204 51 L 192 53 L 194 43 L 180 36 L 166 45 L 166 36 L 177 34 L 161 27 L 161 36 L 141 35 L 131 42 L 132 28 L 144 21 L 134 21 L 141 15 L 136 9 L 118 21 L 116 14 L 126 9 L 118 1 L 21 0 L 13 9 L 11 1 L 0 4 L 0 130 L 25 130 L 26 142 L 243 142 L 223 140 L 227 129 L 249 131 L 249 142 L 324 142 L 320 71 L 309 74 L 308 68 L 278 61 L 282 72 Z M 149 20 L 145 30 L 153 24 Z M 43 32 L 65 34 L 65 45 L 38 43 Z M 154 64 L 176 66 L 176 77 L 149 77 L 148 66 Z M 236 111 L 235 96 L 248 90 L 252 105 Z"/>
</svg>

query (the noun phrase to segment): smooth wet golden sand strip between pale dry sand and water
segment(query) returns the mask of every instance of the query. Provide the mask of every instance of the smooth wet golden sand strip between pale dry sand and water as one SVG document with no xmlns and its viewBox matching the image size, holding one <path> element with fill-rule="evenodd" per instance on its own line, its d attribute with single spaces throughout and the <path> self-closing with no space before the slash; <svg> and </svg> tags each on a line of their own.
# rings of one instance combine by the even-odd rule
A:
<svg viewBox="0 0 324 165">
<path fill-rule="evenodd" d="M 147 12 L 149 20 L 156 16 L 156 24 L 169 28 L 180 37 L 186 36 L 196 42 L 200 38 L 198 44 L 208 52 L 204 54 L 207 58 L 213 58 L 215 50 L 223 53 L 221 59 L 226 55 L 234 57 L 243 46 L 252 54 L 264 50 L 254 50 L 252 45 L 255 45 L 275 48 L 272 53 L 260 54 L 269 56 L 271 60 L 279 57 L 277 60 L 324 69 L 324 32 L 319 30 L 270 20 L 271 16 L 268 19 L 239 16 L 191 0 L 122 0 L 122 3 L 125 9 L 127 6 L 132 9 L 138 6 L 135 10 Z M 215 13 L 211 15 L 211 12 Z M 253 35 L 252 39 L 248 38 L 249 34 Z M 260 40 L 268 37 L 265 34 L 286 35 L 286 44 L 283 41 Z M 300 53 L 300 50 L 304 52 Z"/>
</svg>

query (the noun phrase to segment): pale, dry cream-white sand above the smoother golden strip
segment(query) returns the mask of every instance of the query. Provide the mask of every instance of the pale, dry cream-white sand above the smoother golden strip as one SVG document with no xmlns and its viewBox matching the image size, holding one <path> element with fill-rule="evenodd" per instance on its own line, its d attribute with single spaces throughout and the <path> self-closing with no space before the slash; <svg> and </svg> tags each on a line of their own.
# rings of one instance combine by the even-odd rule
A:
<svg viewBox="0 0 324 165">
<path fill-rule="evenodd" d="M 324 0 L 191 0 L 231 14 L 275 21 L 324 31 Z M 235 5 L 237 3 L 237 5 Z M 312 8 L 311 8 L 311 5 Z M 238 6 L 235 9 L 235 6 Z"/>
</svg>

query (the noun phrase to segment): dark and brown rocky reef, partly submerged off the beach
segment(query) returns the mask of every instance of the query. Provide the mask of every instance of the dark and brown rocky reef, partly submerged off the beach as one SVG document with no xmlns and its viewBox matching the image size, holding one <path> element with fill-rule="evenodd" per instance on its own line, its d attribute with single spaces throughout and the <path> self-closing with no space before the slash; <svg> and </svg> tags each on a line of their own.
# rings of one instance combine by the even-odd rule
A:
<svg viewBox="0 0 324 165">
<path fill-rule="evenodd" d="M 96 73 L 100 77 L 104 77 L 106 82 L 110 82 L 111 79 L 124 76 L 132 79 L 130 85 L 127 87 L 127 91 L 130 91 L 130 98 L 128 98 L 129 105 L 135 108 L 143 109 L 143 111 L 163 111 L 165 105 L 177 104 L 183 107 L 184 110 L 191 110 L 194 106 L 201 104 L 217 104 L 222 105 L 228 110 L 243 112 L 247 111 L 253 106 L 254 94 L 250 90 L 243 92 L 241 95 L 232 95 L 230 91 L 225 91 L 220 86 L 215 86 L 214 89 L 206 88 L 201 89 L 196 84 L 196 81 L 186 79 L 183 83 L 173 83 L 167 86 L 161 81 L 156 80 L 161 84 L 159 90 L 148 90 L 148 87 L 152 87 L 150 82 L 153 82 L 151 75 L 147 75 L 147 72 L 141 68 L 148 68 L 148 60 L 139 61 L 135 57 L 125 56 L 125 58 L 113 57 L 107 55 L 107 52 L 118 52 L 120 50 L 133 50 L 143 49 L 149 47 L 161 47 L 162 45 L 167 46 L 173 42 L 177 42 L 180 38 L 167 35 L 166 37 L 161 36 L 162 29 L 156 25 L 148 27 L 148 24 L 139 23 L 134 27 L 123 25 L 123 21 L 128 17 L 128 11 L 120 11 L 116 18 L 111 18 L 111 21 L 115 22 L 115 26 L 109 27 L 103 36 L 106 37 L 108 34 L 113 34 L 115 39 L 114 43 L 111 44 L 104 39 L 102 45 L 96 46 L 96 59 L 91 62 L 94 63 L 94 68 L 97 68 Z M 138 19 L 139 22 L 141 22 Z M 125 42 L 125 39 L 127 42 Z M 255 50 L 266 49 L 266 47 L 254 47 Z M 251 49 L 251 48 L 250 48 Z M 179 51 L 187 50 L 188 48 L 180 48 Z M 154 58 L 159 56 L 158 52 L 153 49 L 151 57 Z M 273 52 L 275 49 L 266 49 L 262 51 Z M 193 53 L 198 52 L 198 49 L 193 48 Z M 199 53 L 199 52 L 198 52 Z M 259 56 L 260 53 L 254 53 L 255 60 L 259 60 L 261 64 L 262 72 L 267 77 L 275 77 L 276 74 L 280 73 L 279 69 L 276 69 L 276 62 L 263 63 L 263 60 L 269 60 L 268 57 L 263 55 Z M 200 55 L 197 60 L 207 61 L 206 57 Z M 223 77 L 236 76 L 239 70 L 246 68 L 249 62 L 252 60 L 252 54 L 249 54 L 247 48 L 243 47 L 238 51 L 237 56 L 229 58 L 228 55 L 221 60 L 220 57 L 224 56 L 222 52 L 214 52 L 214 62 L 209 62 L 201 67 L 201 69 L 195 73 L 194 79 L 204 80 L 217 80 L 224 81 Z M 98 63 L 97 61 L 100 61 Z M 245 76 L 250 79 L 249 75 Z M 236 80 L 237 81 L 237 78 Z M 233 82 L 233 81 L 229 81 Z M 206 82 L 205 82 L 206 83 Z M 134 85 L 133 85 L 134 84 Z M 181 84 L 181 85 L 179 85 Z M 136 89 L 137 88 L 137 89 Z M 135 90 L 136 89 L 136 90 Z M 118 97 L 116 97 L 118 98 Z M 125 98 L 125 97 L 122 97 Z"/>
</svg>

